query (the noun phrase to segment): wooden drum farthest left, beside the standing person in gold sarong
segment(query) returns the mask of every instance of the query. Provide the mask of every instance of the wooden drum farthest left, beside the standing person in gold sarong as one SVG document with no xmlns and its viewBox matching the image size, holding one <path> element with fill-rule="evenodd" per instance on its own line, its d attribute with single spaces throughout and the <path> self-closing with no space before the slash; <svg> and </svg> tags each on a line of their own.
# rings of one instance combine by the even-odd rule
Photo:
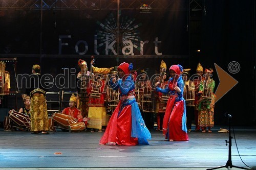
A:
<svg viewBox="0 0 256 170">
<path fill-rule="evenodd" d="M 31 120 L 30 117 L 24 113 L 20 113 L 17 111 L 12 111 L 9 115 L 12 122 L 17 125 L 18 127 L 21 127 L 23 129 L 29 130 Z"/>
</svg>

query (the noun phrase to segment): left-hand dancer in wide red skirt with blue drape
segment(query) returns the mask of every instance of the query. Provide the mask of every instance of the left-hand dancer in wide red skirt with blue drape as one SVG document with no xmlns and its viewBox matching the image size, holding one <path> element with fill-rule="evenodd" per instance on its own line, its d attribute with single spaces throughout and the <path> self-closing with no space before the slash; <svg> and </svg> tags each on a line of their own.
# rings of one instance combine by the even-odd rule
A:
<svg viewBox="0 0 256 170">
<path fill-rule="evenodd" d="M 119 79 L 112 77 L 110 80 L 110 88 L 120 91 L 120 101 L 100 139 L 100 144 L 148 144 L 147 139 L 151 139 L 151 133 L 145 126 L 134 96 L 135 85 L 130 74 L 132 69 L 132 64 L 123 62 L 117 68 Z"/>
</svg>

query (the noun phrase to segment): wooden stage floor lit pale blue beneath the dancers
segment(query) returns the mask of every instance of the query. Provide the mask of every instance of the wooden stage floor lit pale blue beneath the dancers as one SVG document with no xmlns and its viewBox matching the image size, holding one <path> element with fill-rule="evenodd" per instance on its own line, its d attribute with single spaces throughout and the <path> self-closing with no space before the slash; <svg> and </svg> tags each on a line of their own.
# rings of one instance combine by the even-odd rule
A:
<svg viewBox="0 0 256 170">
<path fill-rule="evenodd" d="M 57 130 L 49 135 L 0 129 L 0 169 L 207 169 L 226 165 L 228 133 L 190 132 L 189 141 L 166 141 L 151 130 L 150 145 L 99 145 L 103 132 L 69 133 Z M 256 166 L 256 127 L 234 127 L 240 156 Z M 233 131 L 232 165 L 241 161 Z M 227 168 L 221 168 L 227 169 Z M 232 168 L 239 169 L 239 168 Z M 249 168 L 248 168 L 249 169 Z"/>
</svg>

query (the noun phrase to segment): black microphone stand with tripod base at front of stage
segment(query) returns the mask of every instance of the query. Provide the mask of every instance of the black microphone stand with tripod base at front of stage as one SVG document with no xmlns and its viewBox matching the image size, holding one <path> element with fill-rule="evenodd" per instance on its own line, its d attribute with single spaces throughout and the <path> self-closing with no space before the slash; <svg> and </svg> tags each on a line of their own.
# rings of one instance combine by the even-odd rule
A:
<svg viewBox="0 0 256 170">
<path fill-rule="evenodd" d="M 230 167 L 230 168 L 236 167 L 236 168 L 240 168 L 240 169 L 249 169 L 249 168 L 246 168 L 246 167 L 239 167 L 239 166 L 234 166 L 234 165 L 232 165 L 232 159 L 231 159 L 231 146 L 232 146 L 232 142 L 231 142 L 231 140 L 232 140 L 233 137 L 231 136 L 230 124 L 231 124 L 231 115 L 228 115 L 228 130 L 229 130 L 229 136 L 228 136 L 228 141 L 227 141 L 227 140 L 225 140 L 225 141 L 226 141 L 226 145 L 227 145 L 227 143 L 229 143 L 229 145 L 228 145 L 228 160 L 227 160 L 226 165 L 224 165 L 224 166 L 218 166 L 218 167 L 214 167 L 214 168 L 208 168 L 208 169 L 206 169 L 206 170 L 219 169 L 219 168 L 223 168 L 223 167 L 226 167 L 226 168 L 228 168 L 228 167 Z"/>
</svg>

